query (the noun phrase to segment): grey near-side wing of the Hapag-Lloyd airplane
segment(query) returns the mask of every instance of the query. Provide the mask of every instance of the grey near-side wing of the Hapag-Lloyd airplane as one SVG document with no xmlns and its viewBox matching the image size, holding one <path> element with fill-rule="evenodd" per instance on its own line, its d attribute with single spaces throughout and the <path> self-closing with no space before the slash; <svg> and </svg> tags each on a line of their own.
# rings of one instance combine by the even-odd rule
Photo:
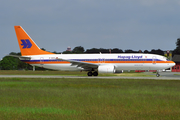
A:
<svg viewBox="0 0 180 120">
<path fill-rule="evenodd" d="M 61 59 L 58 58 L 59 60 L 63 61 L 68 61 L 71 63 L 71 66 L 76 66 L 76 67 L 81 67 L 84 68 L 85 70 L 92 70 L 92 69 L 97 69 L 99 64 L 94 64 L 94 63 L 88 63 L 88 62 L 82 62 L 82 61 L 76 61 L 76 60 L 69 60 L 69 59 Z"/>
</svg>

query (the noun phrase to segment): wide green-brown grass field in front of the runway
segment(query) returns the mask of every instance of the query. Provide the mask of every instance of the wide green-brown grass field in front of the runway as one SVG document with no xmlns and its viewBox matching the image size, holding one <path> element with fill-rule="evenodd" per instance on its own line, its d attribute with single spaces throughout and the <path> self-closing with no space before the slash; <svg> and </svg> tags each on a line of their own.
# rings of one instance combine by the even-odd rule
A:
<svg viewBox="0 0 180 120">
<path fill-rule="evenodd" d="M 180 81 L 0 78 L 1 119 L 180 119 Z"/>
</svg>

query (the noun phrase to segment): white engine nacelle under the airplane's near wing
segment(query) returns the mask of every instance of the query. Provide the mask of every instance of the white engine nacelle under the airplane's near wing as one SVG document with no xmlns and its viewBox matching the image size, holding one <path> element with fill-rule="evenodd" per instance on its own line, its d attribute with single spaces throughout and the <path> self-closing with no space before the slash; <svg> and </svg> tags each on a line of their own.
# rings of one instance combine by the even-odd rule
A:
<svg viewBox="0 0 180 120">
<path fill-rule="evenodd" d="M 98 67 L 99 73 L 115 73 L 114 65 L 101 65 Z"/>
</svg>

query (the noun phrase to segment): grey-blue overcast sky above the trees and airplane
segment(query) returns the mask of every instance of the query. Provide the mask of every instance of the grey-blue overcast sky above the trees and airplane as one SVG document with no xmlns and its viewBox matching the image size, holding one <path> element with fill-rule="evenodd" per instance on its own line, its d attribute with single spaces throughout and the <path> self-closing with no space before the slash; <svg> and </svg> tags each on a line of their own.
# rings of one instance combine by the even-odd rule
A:
<svg viewBox="0 0 180 120">
<path fill-rule="evenodd" d="M 68 46 L 174 50 L 180 37 L 180 1 L 1 0 L 0 59 L 20 52 L 15 25 L 51 52 Z"/>
</svg>

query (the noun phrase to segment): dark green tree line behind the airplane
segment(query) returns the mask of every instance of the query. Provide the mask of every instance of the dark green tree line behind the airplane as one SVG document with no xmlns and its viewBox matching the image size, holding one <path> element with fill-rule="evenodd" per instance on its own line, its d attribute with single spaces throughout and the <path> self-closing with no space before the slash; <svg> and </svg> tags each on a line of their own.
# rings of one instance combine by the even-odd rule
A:
<svg viewBox="0 0 180 120">
<path fill-rule="evenodd" d="M 42 50 L 45 50 L 42 48 Z M 55 54 L 59 54 L 58 52 L 53 52 Z M 77 46 L 75 47 L 72 51 L 63 51 L 62 54 L 92 54 L 92 53 L 148 53 L 148 54 L 158 54 L 158 55 L 163 55 L 164 56 L 164 51 L 161 49 L 152 49 L 151 51 L 148 50 L 138 50 L 134 51 L 131 49 L 127 49 L 123 51 L 122 49 L 119 48 L 113 48 L 113 49 L 104 49 L 104 48 L 91 48 L 87 49 L 85 51 L 84 47 L 82 46 Z M 178 54 L 180 55 L 180 38 L 177 39 L 176 42 L 176 48 L 172 50 L 172 55 Z M 9 55 L 18 55 L 21 56 L 21 53 L 15 53 L 11 52 Z M 15 58 L 12 56 L 5 56 L 1 61 L 0 61 L 0 70 L 32 70 L 32 66 L 24 63 L 19 60 L 19 58 Z M 46 70 L 45 68 L 41 67 L 36 67 L 36 70 Z"/>
</svg>

